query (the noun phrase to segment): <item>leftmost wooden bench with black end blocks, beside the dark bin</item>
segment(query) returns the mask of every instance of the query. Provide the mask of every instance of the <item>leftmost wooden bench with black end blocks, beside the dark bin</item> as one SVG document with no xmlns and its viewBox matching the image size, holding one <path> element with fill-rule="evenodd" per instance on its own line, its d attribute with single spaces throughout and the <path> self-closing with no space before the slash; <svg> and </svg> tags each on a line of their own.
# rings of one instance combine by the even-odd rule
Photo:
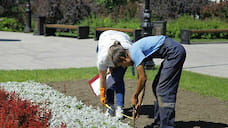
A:
<svg viewBox="0 0 228 128">
<path fill-rule="evenodd" d="M 55 35 L 56 29 L 76 29 L 78 31 L 78 39 L 85 39 L 89 36 L 88 26 L 76 26 L 65 24 L 44 24 L 44 35 Z"/>
</svg>

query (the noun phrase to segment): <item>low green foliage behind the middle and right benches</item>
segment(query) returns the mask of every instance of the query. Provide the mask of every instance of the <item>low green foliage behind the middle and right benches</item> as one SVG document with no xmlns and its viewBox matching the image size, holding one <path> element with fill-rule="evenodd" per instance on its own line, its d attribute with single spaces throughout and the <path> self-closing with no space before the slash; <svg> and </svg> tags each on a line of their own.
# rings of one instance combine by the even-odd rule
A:
<svg viewBox="0 0 228 128">
<path fill-rule="evenodd" d="M 120 18 L 113 20 L 109 16 L 95 16 L 85 18 L 80 21 L 78 25 L 90 26 L 90 35 L 94 34 L 96 27 L 113 27 L 113 28 L 133 28 L 140 29 L 141 20 L 137 18 Z M 179 39 L 181 29 L 224 29 L 228 28 L 228 23 L 219 19 L 199 20 L 192 16 L 184 15 L 176 20 L 168 20 L 167 22 L 167 36 Z M 191 39 L 219 39 L 228 38 L 228 33 L 193 33 Z"/>
</svg>

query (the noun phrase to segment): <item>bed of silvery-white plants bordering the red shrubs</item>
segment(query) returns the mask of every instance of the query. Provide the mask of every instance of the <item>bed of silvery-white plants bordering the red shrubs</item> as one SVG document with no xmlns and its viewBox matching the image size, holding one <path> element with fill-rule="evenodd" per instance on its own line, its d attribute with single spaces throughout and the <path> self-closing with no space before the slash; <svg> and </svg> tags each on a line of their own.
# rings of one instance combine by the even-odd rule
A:
<svg viewBox="0 0 228 128">
<path fill-rule="evenodd" d="M 60 126 L 61 122 L 69 128 L 130 128 L 114 117 L 107 117 L 99 108 L 86 106 L 76 97 L 65 96 L 46 84 L 33 81 L 0 83 L 5 91 L 19 94 L 22 99 L 41 103 L 51 110 L 51 128 Z"/>
</svg>

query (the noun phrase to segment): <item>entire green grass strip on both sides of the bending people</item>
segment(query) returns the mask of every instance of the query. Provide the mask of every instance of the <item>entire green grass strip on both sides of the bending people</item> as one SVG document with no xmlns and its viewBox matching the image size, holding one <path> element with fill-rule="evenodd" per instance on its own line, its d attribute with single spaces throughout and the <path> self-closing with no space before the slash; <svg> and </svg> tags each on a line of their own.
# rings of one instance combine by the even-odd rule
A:
<svg viewBox="0 0 228 128">
<path fill-rule="evenodd" d="M 128 68 L 125 79 L 137 79 L 137 76 L 131 75 L 130 69 L 131 68 Z M 156 67 L 155 70 L 146 71 L 148 80 L 153 80 L 157 70 L 158 67 Z M 45 83 L 64 80 L 90 79 L 96 74 L 96 67 L 49 70 L 0 70 L 0 81 L 21 82 L 34 80 Z M 183 71 L 180 80 L 180 88 L 228 101 L 228 78 Z"/>
</svg>

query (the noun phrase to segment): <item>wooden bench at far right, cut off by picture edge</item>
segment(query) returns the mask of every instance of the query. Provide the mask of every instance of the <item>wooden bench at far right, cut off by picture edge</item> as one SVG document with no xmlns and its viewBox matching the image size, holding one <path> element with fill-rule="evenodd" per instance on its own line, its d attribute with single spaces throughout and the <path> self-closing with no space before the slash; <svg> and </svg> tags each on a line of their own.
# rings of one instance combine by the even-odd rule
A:
<svg viewBox="0 0 228 128">
<path fill-rule="evenodd" d="M 192 33 L 221 33 L 221 32 L 228 32 L 228 29 L 191 29 L 191 30 L 181 30 L 181 43 L 183 44 L 190 44 L 191 34 Z"/>
</svg>

